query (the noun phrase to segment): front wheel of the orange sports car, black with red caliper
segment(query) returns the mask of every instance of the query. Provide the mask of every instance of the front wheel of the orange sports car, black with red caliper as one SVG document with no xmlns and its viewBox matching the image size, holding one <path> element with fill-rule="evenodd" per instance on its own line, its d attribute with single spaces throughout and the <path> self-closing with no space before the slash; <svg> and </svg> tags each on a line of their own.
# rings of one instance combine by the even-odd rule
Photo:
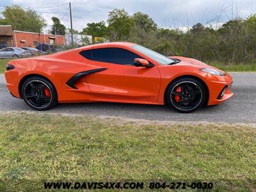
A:
<svg viewBox="0 0 256 192">
<path fill-rule="evenodd" d="M 193 78 L 177 79 L 166 90 L 166 104 L 180 113 L 191 113 L 200 108 L 206 99 L 203 84 Z"/>
</svg>

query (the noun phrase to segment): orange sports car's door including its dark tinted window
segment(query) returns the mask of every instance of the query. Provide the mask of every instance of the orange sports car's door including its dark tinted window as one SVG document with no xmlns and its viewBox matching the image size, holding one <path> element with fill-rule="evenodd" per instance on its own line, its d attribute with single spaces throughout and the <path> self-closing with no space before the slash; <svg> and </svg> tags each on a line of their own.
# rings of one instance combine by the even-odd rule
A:
<svg viewBox="0 0 256 192">
<path fill-rule="evenodd" d="M 93 93 L 104 100 L 120 102 L 157 101 L 161 76 L 157 67 L 136 67 L 134 58 L 138 54 L 120 47 L 92 49 L 82 54 L 90 60 L 90 65 L 104 68 L 86 76 Z"/>
</svg>

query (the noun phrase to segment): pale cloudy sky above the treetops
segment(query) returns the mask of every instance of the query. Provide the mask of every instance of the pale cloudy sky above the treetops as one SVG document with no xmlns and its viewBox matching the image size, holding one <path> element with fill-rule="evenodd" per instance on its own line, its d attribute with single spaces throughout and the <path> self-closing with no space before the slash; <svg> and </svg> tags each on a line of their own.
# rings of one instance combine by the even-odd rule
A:
<svg viewBox="0 0 256 192">
<path fill-rule="evenodd" d="M 81 31 L 89 22 L 108 20 L 108 12 L 118 8 L 132 15 L 147 13 L 161 28 L 186 31 L 193 24 L 201 22 L 218 28 L 221 24 L 236 17 L 246 18 L 256 13 L 256 0 L 1 0 L 0 11 L 4 6 L 19 4 L 22 8 L 33 8 L 47 22 L 44 31 L 52 25 L 51 17 L 58 17 L 70 28 L 68 3 L 72 7 L 73 28 Z M 3 17 L 0 13 L 0 17 Z"/>
</svg>

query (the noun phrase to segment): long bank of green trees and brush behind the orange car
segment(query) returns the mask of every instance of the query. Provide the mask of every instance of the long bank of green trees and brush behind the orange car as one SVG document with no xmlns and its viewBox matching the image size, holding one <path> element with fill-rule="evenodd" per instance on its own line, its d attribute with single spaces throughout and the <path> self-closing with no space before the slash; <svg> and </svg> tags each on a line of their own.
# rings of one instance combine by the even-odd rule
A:
<svg viewBox="0 0 256 192">
<path fill-rule="evenodd" d="M 1 22 L 1 21 L 0 21 Z M 229 20 L 219 29 L 197 23 L 189 31 L 157 28 L 147 14 L 132 16 L 125 10 L 109 12 L 108 27 L 102 22 L 86 25 L 82 34 L 102 36 L 111 41 L 128 41 L 143 45 L 166 56 L 196 58 L 202 61 L 225 63 L 255 63 L 256 15 L 247 19 Z M 88 44 L 88 40 L 84 41 Z"/>
</svg>

